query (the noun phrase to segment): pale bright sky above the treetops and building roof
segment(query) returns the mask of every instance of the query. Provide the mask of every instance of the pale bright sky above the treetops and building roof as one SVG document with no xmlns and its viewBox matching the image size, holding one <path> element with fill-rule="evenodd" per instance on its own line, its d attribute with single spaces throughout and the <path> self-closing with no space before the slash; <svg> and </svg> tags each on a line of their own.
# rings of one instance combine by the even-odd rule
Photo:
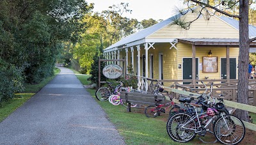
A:
<svg viewBox="0 0 256 145">
<path fill-rule="evenodd" d="M 101 12 L 109 10 L 113 4 L 129 3 L 129 10 L 132 13 L 125 14 L 124 17 L 137 19 L 166 20 L 175 13 L 175 8 L 182 5 L 180 0 L 86 0 L 88 3 L 94 3 L 93 11 Z"/>
</svg>

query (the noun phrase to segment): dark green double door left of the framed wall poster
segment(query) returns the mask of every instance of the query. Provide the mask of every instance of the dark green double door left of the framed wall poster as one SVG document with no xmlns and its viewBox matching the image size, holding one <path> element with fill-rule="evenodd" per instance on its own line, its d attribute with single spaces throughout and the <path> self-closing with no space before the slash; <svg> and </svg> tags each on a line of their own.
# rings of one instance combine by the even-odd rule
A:
<svg viewBox="0 0 256 145">
<path fill-rule="evenodd" d="M 192 79 L 192 58 L 183 59 L 183 79 Z M 196 58 L 196 79 L 198 79 L 198 58 Z M 183 84 L 190 83 L 183 82 Z"/>
</svg>

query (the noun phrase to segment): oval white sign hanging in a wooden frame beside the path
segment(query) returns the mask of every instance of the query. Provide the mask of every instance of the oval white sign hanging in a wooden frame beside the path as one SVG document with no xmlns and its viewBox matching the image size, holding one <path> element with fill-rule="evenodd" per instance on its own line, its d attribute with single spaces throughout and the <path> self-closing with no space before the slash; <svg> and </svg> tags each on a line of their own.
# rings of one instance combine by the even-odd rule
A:
<svg viewBox="0 0 256 145">
<path fill-rule="evenodd" d="M 123 69 L 119 65 L 107 65 L 103 68 L 102 73 L 108 79 L 116 79 L 123 74 Z"/>
</svg>

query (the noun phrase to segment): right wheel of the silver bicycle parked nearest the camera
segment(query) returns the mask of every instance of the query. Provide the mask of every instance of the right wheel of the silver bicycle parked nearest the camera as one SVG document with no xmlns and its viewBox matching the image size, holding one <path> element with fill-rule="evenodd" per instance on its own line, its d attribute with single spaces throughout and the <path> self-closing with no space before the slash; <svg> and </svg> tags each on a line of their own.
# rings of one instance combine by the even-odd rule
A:
<svg viewBox="0 0 256 145">
<path fill-rule="evenodd" d="M 216 119 L 213 130 L 216 139 L 223 144 L 238 144 L 245 135 L 243 121 L 230 114 Z"/>
</svg>

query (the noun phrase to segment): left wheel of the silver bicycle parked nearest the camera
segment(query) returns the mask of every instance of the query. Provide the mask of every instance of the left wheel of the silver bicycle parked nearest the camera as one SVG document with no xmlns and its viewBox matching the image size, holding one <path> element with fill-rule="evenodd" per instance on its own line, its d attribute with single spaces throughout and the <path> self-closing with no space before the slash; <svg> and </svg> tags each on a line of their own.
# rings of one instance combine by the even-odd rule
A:
<svg viewBox="0 0 256 145">
<path fill-rule="evenodd" d="M 188 142 L 195 138 L 196 123 L 190 118 L 186 112 L 177 112 L 168 119 L 166 130 L 173 141 Z"/>
</svg>

